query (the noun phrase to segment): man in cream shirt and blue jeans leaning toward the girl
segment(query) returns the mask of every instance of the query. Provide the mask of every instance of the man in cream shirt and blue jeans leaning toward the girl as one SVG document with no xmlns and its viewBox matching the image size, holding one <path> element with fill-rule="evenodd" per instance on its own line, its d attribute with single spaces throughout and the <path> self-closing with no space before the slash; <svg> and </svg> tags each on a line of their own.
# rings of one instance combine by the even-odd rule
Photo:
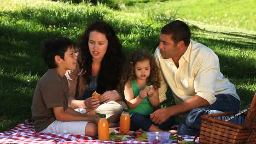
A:
<svg viewBox="0 0 256 144">
<path fill-rule="evenodd" d="M 162 123 L 179 115 L 179 135 L 196 135 L 201 115 L 240 110 L 235 86 L 220 73 L 218 56 L 208 47 L 190 40 L 187 24 L 176 20 L 161 29 L 155 61 L 163 80 L 160 101 L 165 99 L 167 85 L 172 89 L 176 105 L 156 110 L 150 118 Z"/>
</svg>

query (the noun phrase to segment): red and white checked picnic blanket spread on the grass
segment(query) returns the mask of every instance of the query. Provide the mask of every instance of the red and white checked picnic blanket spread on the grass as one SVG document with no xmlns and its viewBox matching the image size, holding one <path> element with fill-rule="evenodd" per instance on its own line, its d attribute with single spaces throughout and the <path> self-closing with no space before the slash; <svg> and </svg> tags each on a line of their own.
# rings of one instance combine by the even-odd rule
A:
<svg viewBox="0 0 256 144">
<path fill-rule="evenodd" d="M 182 136 L 186 141 L 193 141 L 194 136 Z M 197 140 L 198 142 L 198 140 Z M 33 128 L 33 123 L 26 120 L 18 124 L 15 128 L 0 133 L 0 143 L 149 143 L 134 139 L 127 139 L 123 142 L 100 141 L 94 137 L 73 134 L 49 134 L 37 133 Z"/>
</svg>

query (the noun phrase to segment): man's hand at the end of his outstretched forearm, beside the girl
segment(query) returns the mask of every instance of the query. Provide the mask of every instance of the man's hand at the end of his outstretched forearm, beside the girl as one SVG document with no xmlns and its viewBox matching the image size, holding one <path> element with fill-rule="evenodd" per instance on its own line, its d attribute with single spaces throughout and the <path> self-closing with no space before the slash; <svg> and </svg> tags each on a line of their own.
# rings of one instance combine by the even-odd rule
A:
<svg viewBox="0 0 256 144">
<path fill-rule="evenodd" d="M 167 108 L 158 109 L 154 113 L 150 114 L 151 121 L 156 124 L 165 122 L 169 117 L 170 113 Z"/>
</svg>

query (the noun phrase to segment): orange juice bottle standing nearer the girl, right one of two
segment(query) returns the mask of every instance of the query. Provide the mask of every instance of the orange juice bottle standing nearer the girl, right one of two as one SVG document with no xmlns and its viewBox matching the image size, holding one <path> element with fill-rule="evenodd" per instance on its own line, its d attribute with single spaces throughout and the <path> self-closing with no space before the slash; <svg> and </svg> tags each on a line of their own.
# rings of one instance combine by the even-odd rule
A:
<svg viewBox="0 0 256 144">
<path fill-rule="evenodd" d="M 130 131 L 131 117 L 129 109 L 124 109 L 120 117 L 120 129 L 119 131 L 129 132 Z"/>
</svg>

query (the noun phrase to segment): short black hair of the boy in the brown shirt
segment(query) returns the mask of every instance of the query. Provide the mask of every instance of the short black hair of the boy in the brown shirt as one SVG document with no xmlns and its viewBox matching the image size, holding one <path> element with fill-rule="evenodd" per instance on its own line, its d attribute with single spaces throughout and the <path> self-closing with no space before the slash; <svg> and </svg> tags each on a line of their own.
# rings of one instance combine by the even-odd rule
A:
<svg viewBox="0 0 256 144">
<path fill-rule="evenodd" d="M 47 64 L 49 69 L 57 67 L 54 59 L 55 56 L 60 56 L 64 59 L 64 54 L 68 47 L 75 47 L 73 41 L 68 38 L 55 37 L 45 41 L 42 53 L 44 62 Z"/>
</svg>

